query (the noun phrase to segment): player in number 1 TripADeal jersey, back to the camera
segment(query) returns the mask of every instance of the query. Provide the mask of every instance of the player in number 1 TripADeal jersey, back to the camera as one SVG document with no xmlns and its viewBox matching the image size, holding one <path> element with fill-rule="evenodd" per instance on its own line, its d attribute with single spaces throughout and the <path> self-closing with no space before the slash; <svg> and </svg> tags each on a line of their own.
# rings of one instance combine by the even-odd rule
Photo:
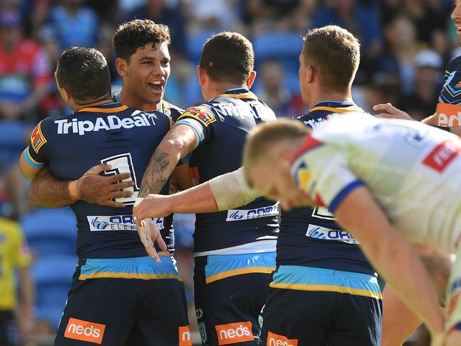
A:
<svg viewBox="0 0 461 346">
<path fill-rule="evenodd" d="M 168 40 L 165 26 L 157 26 L 155 35 L 145 50 L 161 50 Z M 97 50 L 68 48 L 55 77 L 62 98 L 75 113 L 37 125 L 21 155 L 24 175 L 33 179 L 48 164 L 57 178 L 72 180 L 82 176 L 84 167 L 102 162 L 110 167 L 106 175 L 122 172 L 137 182 L 152 147 L 170 130 L 171 119 L 113 102 L 109 67 Z M 114 185 L 126 187 L 125 182 Z M 69 189 L 71 197 L 78 195 L 78 181 Z M 137 190 L 135 184 L 133 191 Z M 135 232 L 134 199 L 121 198 L 118 203 L 125 208 L 85 201 L 72 205 L 79 228 L 79 263 L 55 345 L 191 345 L 184 286 L 165 242 L 157 239 L 162 251 L 155 263 Z"/>
</svg>

